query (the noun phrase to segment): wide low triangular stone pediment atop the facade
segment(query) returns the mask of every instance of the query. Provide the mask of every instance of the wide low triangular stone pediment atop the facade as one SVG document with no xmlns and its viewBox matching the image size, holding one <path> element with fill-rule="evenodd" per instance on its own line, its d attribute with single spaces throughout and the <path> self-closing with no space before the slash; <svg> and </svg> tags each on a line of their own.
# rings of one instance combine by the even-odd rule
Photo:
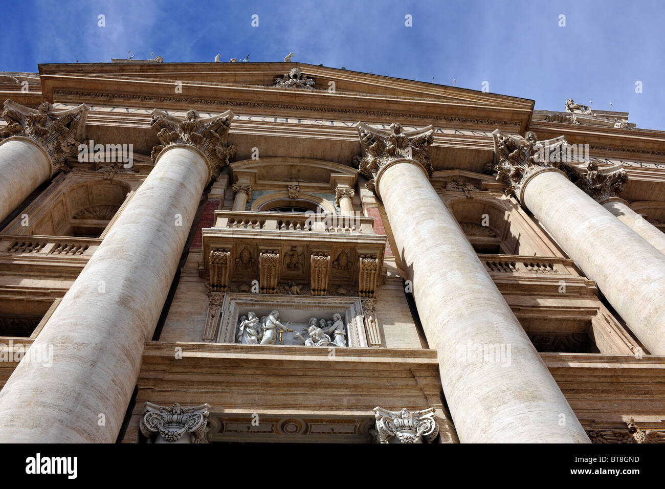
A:
<svg viewBox="0 0 665 489">
<path fill-rule="evenodd" d="M 288 78 L 293 68 L 314 83 L 308 89 L 274 86 L 275 79 Z M 76 63 L 39 65 L 39 73 L 43 94 L 53 102 L 205 111 L 223 107 L 234 112 L 263 106 L 265 113 L 271 109 L 310 116 L 319 112 L 367 122 L 399 118 L 423 126 L 434 122 L 438 126 L 525 128 L 534 103 L 304 63 Z"/>
</svg>

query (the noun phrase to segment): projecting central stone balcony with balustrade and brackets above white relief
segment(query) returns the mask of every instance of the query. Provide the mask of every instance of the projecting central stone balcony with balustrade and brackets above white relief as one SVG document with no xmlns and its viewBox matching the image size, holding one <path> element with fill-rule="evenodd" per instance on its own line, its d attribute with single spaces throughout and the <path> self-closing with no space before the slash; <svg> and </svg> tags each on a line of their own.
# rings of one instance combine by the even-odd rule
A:
<svg viewBox="0 0 665 489">
<path fill-rule="evenodd" d="M 204 228 L 201 276 L 211 290 L 374 297 L 386 237 L 374 218 L 314 213 L 216 211 Z M 243 288 L 244 287 L 244 288 Z M 357 292 L 356 292 L 357 291 Z"/>
</svg>

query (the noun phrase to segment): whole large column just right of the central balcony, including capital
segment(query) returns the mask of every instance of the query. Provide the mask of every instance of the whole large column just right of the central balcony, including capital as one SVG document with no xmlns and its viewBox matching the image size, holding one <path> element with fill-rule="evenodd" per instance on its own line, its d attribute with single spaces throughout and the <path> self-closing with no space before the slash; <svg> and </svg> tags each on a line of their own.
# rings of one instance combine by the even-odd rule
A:
<svg viewBox="0 0 665 489">
<path fill-rule="evenodd" d="M 391 223 L 462 442 L 589 442 L 540 355 L 428 180 L 432 129 L 358 123 L 359 170 Z M 489 349 L 492 353 L 489 353 Z M 485 352 L 483 354 L 483 351 Z M 479 354 L 478 354 L 479 353 Z M 489 353 L 489 355 L 487 355 Z"/>
</svg>

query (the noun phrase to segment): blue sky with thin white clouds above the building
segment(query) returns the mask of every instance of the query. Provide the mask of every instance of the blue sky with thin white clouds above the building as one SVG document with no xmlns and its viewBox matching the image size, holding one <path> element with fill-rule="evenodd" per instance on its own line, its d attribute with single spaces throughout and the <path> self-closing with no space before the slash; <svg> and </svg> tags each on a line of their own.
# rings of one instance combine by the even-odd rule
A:
<svg viewBox="0 0 665 489">
<path fill-rule="evenodd" d="M 4 7 L 0 71 L 104 63 L 293 61 L 630 112 L 665 130 L 662 1 L 17 1 Z M 251 27 L 251 16 L 259 27 Z M 106 27 L 98 27 L 104 15 Z M 406 27 L 405 16 L 412 16 Z M 565 15 L 566 27 L 559 27 Z M 635 92 L 636 81 L 642 93 Z"/>
</svg>

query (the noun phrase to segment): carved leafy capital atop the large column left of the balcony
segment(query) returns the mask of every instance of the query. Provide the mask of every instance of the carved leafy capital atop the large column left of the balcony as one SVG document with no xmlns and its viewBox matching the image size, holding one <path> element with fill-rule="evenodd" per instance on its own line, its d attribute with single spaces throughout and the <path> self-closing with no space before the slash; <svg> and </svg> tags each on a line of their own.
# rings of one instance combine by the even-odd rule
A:
<svg viewBox="0 0 665 489">
<path fill-rule="evenodd" d="M 235 146 L 227 144 L 233 117 L 235 114 L 231 110 L 208 118 L 199 118 L 196 110 L 188 110 L 185 118 L 170 116 L 162 110 L 153 110 L 150 127 L 158 131 L 157 137 L 161 144 L 152 148 L 152 161 L 168 146 L 189 144 L 205 155 L 210 168 L 210 179 L 215 180 L 221 168 L 229 164 L 229 158 L 235 154 Z"/>
</svg>

